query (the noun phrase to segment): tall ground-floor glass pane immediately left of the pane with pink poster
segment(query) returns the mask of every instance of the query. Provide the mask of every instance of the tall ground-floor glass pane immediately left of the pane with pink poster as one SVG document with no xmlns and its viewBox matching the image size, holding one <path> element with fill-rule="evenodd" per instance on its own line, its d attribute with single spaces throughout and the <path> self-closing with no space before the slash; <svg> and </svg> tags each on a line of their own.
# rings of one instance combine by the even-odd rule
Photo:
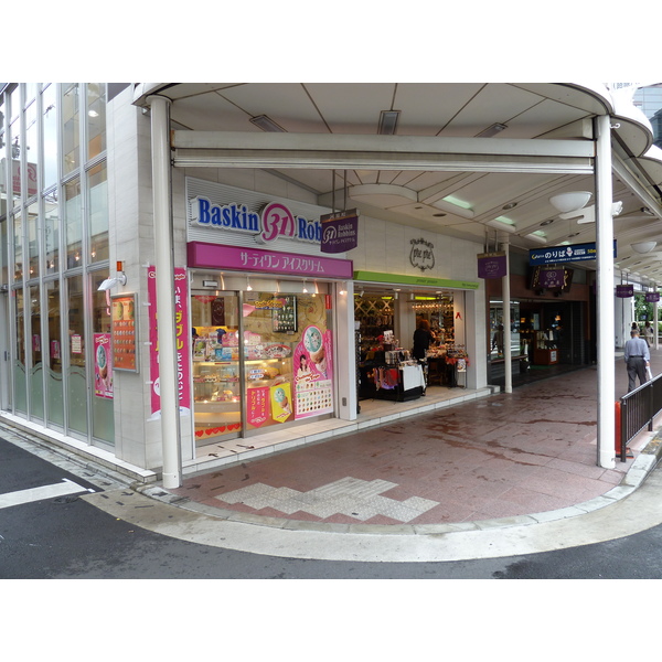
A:
<svg viewBox="0 0 662 662">
<path fill-rule="evenodd" d="M 68 429 L 87 434 L 87 378 L 85 375 L 85 300 L 83 276 L 66 279 L 68 321 Z"/>
</svg>

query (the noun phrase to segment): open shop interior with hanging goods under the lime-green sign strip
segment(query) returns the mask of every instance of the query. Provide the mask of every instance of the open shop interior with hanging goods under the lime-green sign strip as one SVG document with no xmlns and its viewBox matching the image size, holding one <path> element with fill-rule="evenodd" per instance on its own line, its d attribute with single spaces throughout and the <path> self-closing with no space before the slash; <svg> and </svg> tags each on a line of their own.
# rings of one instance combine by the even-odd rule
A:
<svg viewBox="0 0 662 662">
<path fill-rule="evenodd" d="M 360 401 L 405 402 L 421 397 L 428 387 L 466 385 L 465 328 L 456 323 L 458 297 L 462 296 L 451 290 L 407 291 L 355 285 Z M 425 360 L 418 361 L 412 349 L 414 331 L 421 320 L 427 322 L 431 342 Z"/>
</svg>

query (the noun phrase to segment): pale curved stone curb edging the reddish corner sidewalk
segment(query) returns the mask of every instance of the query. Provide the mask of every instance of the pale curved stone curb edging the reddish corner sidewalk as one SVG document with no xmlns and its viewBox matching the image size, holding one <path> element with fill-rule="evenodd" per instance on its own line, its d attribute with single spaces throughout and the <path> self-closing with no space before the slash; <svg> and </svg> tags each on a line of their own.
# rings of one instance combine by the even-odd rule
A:
<svg viewBox="0 0 662 662">
<path fill-rule="evenodd" d="M 132 483 L 130 489 L 145 496 L 160 501 L 161 503 L 181 508 L 215 520 L 236 522 L 241 524 L 253 524 L 269 526 L 287 531 L 300 532 L 325 532 L 346 533 L 364 535 L 442 535 L 462 531 L 488 531 L 498 528 L 511 528 L 513 526 L 530 526 L 543 522 L 566 520 L 597 511 L 616 502 L 627 499 L 632 492 L 640 488 L 650 473 L 655 469 L 662 458 L 662 428 L 655 437 L 639 452 L 632 466 L 621 480 L 620 484 L 605 494 L 555 511 L 545 511 L 530 515 L 514 515 L 511 517 L 499 517 L 493 520 L 480 520 L 476 522 L 457 522 L 449 524 L 333 524 L 325 522 L 308 522 L 299 520 L 287 520 L 284 517 L 269 517 L 252 513 L 242 513 L 221 508 L 214 508 L 204 503 L 192 501 L 188 496 L 173 494 L 162 487 L 145 483 Z"/>
</svg>

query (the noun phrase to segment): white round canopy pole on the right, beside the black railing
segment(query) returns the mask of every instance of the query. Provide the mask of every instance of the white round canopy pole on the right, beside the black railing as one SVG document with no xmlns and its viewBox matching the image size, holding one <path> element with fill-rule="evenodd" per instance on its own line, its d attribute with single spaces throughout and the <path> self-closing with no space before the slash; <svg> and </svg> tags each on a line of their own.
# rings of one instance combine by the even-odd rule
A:
<svg viewBox="0 0 662 662">
<path fill-rule="evenodd" d="M 598 318 L 598 466 L 616 467 L 613 337 L 613 216 L 611 215 L 611 120 L 596 118 L 596 253 Z"/>
</svg>

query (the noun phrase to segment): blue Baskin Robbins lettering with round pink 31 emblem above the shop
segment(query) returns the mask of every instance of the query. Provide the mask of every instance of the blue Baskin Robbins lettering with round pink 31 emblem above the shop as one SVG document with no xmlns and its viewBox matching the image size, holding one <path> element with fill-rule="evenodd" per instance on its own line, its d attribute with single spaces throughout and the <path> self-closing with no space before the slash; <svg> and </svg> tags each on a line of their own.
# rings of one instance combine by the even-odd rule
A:
<svg viewBox="0 0 662 662">
<path fill-rule="evenodd" d="M 269 244 L 278 237 L 319 244 L 322 238 L 319 221 L 296 216 L 279 202 L 266 204 L 258 213 L 245 204 L 218 205 L 199 196 L 191 200 L 191 221 L 202 227 L 252 234 L 258 244 Z"/>
</svg>

